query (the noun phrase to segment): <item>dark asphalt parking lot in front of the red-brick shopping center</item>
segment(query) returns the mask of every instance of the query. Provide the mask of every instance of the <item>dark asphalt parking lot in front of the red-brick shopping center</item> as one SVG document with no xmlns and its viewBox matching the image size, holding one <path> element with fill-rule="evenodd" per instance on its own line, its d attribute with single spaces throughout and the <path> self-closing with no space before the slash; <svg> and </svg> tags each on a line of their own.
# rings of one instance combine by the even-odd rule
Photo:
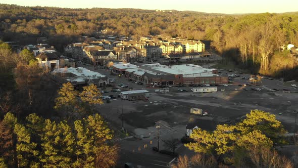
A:
<svg viewBox="0 0 298 168">
<path fill-rule="evenodd" d="M 213 127 L 212 123 L 231 123 L 249 113 L 250 110 L 260 109 L 275 114 L 286 130 L 294 131 L 296 114 L 292 113 L 292 110 L 298 109 L 298 94 L 295 92 L 296 89 L 290 85 L 296 82 L 284 83 L 278 79 L 263 77 L 258 83 L 251 83 L 249 79 L 242 78 L 251 78 L 254 77 L 253 75 L 237 73 L 240 76 L 231 78 L 232 83 L 227 86 L 218 86 L 218 92 L 215 93 L 193 93 L 190 90 L 192 87 L 189 86 L 171 86 L 169 93 L 162 94 L 155 93 L 156 88 L 137 85 L 128 81 L 126 77 L 111 75 L 106 69 L 84 67 L 114 79 L 112 87 L 105 89 L 110 92 L 103 93 L 103 96 L 114 95 L 115 99 L 110 103 L 98 105 L 98 111 L 107 118 L 114 129 L 120 130 L 123 124 L 123 128 L 130 133 L 129 136 L 140 137 L 140 139 L 128 138 L 124 140 L 123 136 L 116 134 L 116 139 L 121 145 L 122 154 L 119 165 L 122 166 L 125 162 L 135 162 L 146 167 L 162 167 L 159 165 L 165 166 L 172 159 L 152 150 L 153 146 L 157 146 L 157 124 L 161 125 L 161 139 L 180 139 L 185 135 L 185 127 L 189 121 L 197 120 L 204 124 L 202 125 L 204 128 L 208 129 Z M 222 76 L 235 73 L 221 72 Z M 119 83 L 128 87 L 121 88 L 118 86 Z M 246 86 L 243 86 L 244 83 Z M 244 88 L 246 90 L 243 90 Z M 260 91 L 252 90 L 256 88 L 260 88 Z M 149 101 L 121 100 L 117 97 L 120 93 L 119 90 L 111 92 L 115 89 L 121 91 L 146 89 L 150 92 L 150 98 Z M 278 91 L 273 89 L 278 89 Z M 204 117 L 191 115 L 191 107 L 202 108 L 210 115 Z M 123 117 L 121 117 L 121 113 L 123 113 Z M 160 141 L 160 149 L 166 149 L 162 141 Z M 182 155 L 192 153 L 192 151 L 186 150 L 182 144 L 177 152 Z M 138 155 L 138 153 L 142 155 Z M 128 155 L 138 159 L 126 157 Z M 146 158 L 144 158 L 145 155 Z"/>
</svg>

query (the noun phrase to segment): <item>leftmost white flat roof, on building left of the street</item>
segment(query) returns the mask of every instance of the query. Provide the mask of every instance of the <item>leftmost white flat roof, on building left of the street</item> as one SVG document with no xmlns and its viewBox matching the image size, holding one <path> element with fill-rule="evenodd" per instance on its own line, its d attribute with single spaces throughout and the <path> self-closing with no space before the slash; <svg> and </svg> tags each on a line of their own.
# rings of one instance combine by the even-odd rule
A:
<svg viewBox="0 0 298 168">
<path fill-rule="evenodd" d="M 53 70 L 54 73 L 72 73 L 76 75 L 75 77 L 68 77 L 66 80 L 68 81 L 77 81 L 83 82 L 85 79 L 98 79 L 101 77 L 106 77 L 98 72 L 90 71 L 89 69 L 78 67 L 78 68 L 55 68 Z"/>
</svg>

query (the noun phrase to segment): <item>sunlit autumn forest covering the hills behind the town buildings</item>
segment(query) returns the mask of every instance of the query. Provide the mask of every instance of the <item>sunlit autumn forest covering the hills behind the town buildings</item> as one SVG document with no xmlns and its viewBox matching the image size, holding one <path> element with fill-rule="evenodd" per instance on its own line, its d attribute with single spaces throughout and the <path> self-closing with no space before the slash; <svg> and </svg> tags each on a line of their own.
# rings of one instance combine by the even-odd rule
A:
<svg viewBox="0 0 298 168">
<path fill-rule="evenodd" d="M 281 52 L 287 44 L 298 46 L 298 12 L 262 14 L 209 14 L 192 11 L 140 9 L 68 9 L 0 5 L 2 40 L 36 43 L 45 36 L 58 50 L 81 35 L 98 37 L 152 35 L 160 38 L 212 40 L 212 50 L 226 64 L 287 80 L 297 79 L 296 57 Z M 35 38 L 34 38 L 35 37 Z M 286 73 L 285 73 L 286 72 Z M 297 74 L 297 73 L 296 73 Z"/>
</svg>

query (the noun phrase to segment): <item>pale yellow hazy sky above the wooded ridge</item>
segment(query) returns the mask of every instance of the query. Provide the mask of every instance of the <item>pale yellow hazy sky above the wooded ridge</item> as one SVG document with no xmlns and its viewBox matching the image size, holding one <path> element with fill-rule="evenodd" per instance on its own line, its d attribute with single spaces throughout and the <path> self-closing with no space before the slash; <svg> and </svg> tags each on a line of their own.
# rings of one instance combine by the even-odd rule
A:
<svg viewBox="0 0 298 168">
<path fill-rule="evenodd" d="M 64 8 L 174 9 L 226 14 L 298 11 L 298 0 L 2 0 L 0 3 Z"/>
</svg>

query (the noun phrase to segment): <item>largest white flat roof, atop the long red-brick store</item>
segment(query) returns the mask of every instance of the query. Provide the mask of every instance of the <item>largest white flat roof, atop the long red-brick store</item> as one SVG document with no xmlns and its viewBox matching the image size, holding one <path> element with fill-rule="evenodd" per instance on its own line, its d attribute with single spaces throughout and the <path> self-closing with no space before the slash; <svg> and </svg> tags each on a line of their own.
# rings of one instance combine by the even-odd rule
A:
<svg viewBox="0 0 298 168">
<path fill-rule="evenodd" d="M 160 65 L 160 64 L 146 64 L 144 66 L 150 67 L 158 71 L 166 72 L 166 73 L 183 74 L 183 75 L 212 72 L 212 70 L 215 70 L 215 69 L 203 68 L 200 65 L 193 65 L 193 64 L 182 64 L 182 65 L 171 65 L 171 66 Z"/>
</svg>

